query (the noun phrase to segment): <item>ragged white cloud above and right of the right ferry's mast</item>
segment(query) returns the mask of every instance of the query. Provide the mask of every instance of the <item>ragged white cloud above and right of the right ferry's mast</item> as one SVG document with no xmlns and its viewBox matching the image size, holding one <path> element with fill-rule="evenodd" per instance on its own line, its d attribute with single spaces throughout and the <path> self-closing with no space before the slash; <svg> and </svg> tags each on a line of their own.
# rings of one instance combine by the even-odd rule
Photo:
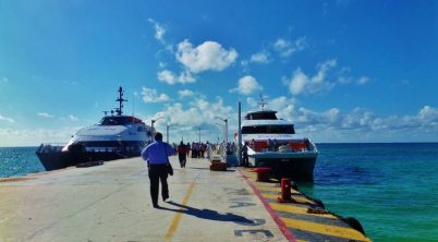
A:
<svg viewBox="0 0 438 242">
<path fill-rule="evenodd" d="M 326 80 L 327 72 L 337 65 L 336 60 L 327 60 L 317 65 L 317 73 L 313 76 L 306 75 L 300 68 L 296 69 L 292 77 L 283 78 L 284 84 L 293 95 L 303 93 L 315 94 L 323 90 L 329 90 L 334 86 L 333 82 Z"/>
</svg>

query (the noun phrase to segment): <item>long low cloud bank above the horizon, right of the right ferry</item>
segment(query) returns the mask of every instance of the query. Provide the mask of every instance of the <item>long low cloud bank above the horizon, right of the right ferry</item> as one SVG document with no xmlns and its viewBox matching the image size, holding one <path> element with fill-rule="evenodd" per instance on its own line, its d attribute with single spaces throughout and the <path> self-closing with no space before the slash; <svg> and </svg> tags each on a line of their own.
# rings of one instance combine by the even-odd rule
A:
<svg viewBox="0 0 438 242">
<path fill-rule="evenodd" d="M 318 142 L 436 141 L 438 134 L 438 108 L 430 106 L 412 116 L 377 117 L 360 107 L 314 111 L 289 105 L 283 111 L 287 102 L 279 99 L 278 117 L 294 122 L 299 133 L 313 133 Z"/>
</svg>

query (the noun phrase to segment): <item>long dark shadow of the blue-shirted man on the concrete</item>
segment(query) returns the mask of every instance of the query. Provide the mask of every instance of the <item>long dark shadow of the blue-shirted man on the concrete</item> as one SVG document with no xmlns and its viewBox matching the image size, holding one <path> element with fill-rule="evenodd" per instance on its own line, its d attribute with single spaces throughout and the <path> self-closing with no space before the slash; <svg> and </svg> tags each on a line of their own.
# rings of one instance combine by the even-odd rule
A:
<svg viewBox="0 0 438 242">
<path fill-rule="evenodd" d="M 173 209 L 173 208 L 167 208 L 167 207 L 159 207 L 159 209 L 162 210 L 171 210 L 175 213 L 182 213 L 191 216 L 195 216 L 202 219 L 209 219 L 209 220 L 216 220 L 216 221 L 231 221 L 235 222 L 238 225 L 242 226 L 259 226 L 260 225 L 260 219 L 247 219 L 243 216 L 235 215 L 232 213 L 226 213 L 226 214 L 219 214 L 216 210 L 210 210 L 210 209 L 198 209 L 194 208 L 187 205 L 182 205 L 178 204 L 174 202 L 167 202 L 170 205 L 180 207 L 180 209 Z M 263 222 L 265 223 L 265 222 Z"/>
</svg>

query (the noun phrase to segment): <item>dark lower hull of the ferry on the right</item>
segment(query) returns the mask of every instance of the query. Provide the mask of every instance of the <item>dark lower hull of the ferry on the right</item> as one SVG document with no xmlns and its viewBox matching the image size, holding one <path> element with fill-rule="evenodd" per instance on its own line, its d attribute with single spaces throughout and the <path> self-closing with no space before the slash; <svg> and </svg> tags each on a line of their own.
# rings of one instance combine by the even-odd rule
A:
<svg viewBox="0 0 438 242">
<path fill-rule="evenodd" d="M 248 157 L 254 167 L 271 168 L 271 176 L 293 181 L 313 181 L 316 153 L 265 153 Z"/>
</svg>

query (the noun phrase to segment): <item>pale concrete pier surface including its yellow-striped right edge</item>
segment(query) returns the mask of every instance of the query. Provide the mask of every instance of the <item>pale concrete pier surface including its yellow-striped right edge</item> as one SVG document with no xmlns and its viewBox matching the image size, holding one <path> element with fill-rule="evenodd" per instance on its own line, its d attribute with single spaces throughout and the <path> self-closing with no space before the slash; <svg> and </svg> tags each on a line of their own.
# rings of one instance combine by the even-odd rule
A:
<svg viewBox="0 0 438 242">
<path fill-rule="evenodd" d="M 305 197 L 297 207 L 276 204 L 280 189 L 248 170 L 210 171 L 206 159 L 181 169 L 170 160 L 170 199 L 160 208 L 141 158 L 2 179 L 0 242 L 368 240 L 332 215 L 306 215 Z"/>
</svg>

